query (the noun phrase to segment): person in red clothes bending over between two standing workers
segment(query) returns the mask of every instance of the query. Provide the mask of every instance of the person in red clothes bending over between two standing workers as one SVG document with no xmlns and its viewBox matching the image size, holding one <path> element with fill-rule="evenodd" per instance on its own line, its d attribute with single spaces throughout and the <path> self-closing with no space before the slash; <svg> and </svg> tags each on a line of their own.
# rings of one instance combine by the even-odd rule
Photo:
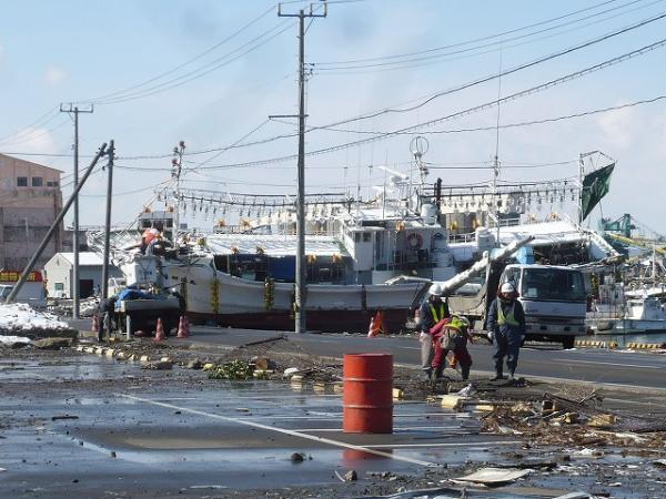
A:
<svg viewBox="0 0 666 499">
<path fill-rule="evenodd" d="M 435 379 L 442 377 L 446 355 L 453 352 L 454 358 L 461 365 L 461 375 L 464 380 L 470 378 L 472 368 L 472 356 L 467 349 L 467 342 L 472 340 L 470 335 L 470 322 L 465 317 L 454 315 L 435 324 L 430 334 L 433 338 L 434 356 L 432 367 Z"/>
</svg>

